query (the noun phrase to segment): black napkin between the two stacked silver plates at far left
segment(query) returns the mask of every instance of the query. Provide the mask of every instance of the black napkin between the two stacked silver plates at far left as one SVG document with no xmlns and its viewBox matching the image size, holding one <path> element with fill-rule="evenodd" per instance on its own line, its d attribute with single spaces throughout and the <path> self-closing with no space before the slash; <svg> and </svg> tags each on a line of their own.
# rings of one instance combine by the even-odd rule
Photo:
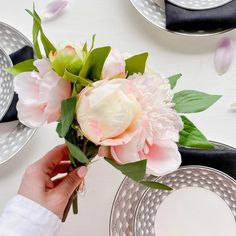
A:
<svg viewBox="0 0 236 236">
<path fill-rule="evenodd" d="M 30 46 L 24 46 L 20 50 L 10 54 L 10 58 L 12 60 L 13 65 L 18 64 L 25 60 L 33 59 L 34 58 L 33 48 Z M 15 93 L 10 108 L 3 117 L 3 119 L 0 121 L 0 123 L 17 120 L 17 111 L 16 111 L 17 102 L 18 102 L 18 95 Z"/>
</svg>

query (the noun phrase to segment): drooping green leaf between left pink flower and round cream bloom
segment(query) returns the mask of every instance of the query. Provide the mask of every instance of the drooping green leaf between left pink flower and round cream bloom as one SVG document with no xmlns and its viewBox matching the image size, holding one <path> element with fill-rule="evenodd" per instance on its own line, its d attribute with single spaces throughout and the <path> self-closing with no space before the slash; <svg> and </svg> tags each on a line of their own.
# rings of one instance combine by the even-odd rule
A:
<svg viewBox="0 0 236 236">
<path fill-rule="evenodd" d="M 61 138 L 64 138 L 70 129 L 74 118 L 76 101 L 76 97 L 71 97 L 61 103 L 61 117 L 57 125 L 57 133 Z"/>
</svg>

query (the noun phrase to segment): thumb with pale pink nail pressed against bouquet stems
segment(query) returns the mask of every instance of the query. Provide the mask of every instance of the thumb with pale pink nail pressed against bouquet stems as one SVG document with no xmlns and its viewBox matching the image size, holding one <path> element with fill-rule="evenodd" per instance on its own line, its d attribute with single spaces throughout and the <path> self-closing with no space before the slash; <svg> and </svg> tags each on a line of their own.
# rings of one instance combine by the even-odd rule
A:
<svg viewBox="0 0 236 236">
<path fill-rule="evenodd" d="M 69 198 L 75 189 L 81 184 L 87 172 L 88 169 L 86 166 L 73 170 L 58 185 L 57 192 L 62 193 L 62 195 Z"/>
</svg>

